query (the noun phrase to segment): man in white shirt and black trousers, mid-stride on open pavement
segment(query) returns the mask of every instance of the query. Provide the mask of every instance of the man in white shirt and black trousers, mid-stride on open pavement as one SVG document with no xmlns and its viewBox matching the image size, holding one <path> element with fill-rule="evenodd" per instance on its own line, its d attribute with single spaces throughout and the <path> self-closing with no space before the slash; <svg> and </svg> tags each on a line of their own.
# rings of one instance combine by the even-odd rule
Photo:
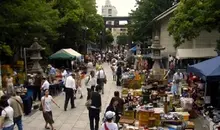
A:
<svg viewBox="0 0 220 130">
<path fill-rule="evenodd" d="M 67 105 L 69 103 L 69 100 L 71 102 L 71 108 L 75 108 L 74 104 L 74 91 L 76 90 L 76 81 L 75 81 L 75 74 L 71 74 L 67 77 L 66 83 L 65 83 L 65 103 L 64 103 L 64 111 L 67 109 Z"/>
</svg>

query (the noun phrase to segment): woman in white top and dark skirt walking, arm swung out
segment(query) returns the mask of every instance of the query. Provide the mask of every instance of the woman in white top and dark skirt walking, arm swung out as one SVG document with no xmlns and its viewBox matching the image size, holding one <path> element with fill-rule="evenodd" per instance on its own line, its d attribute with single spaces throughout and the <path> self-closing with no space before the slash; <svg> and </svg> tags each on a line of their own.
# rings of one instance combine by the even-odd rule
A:
<svg viewBox="0 0 220 130">
<path fill-rule="evenodd" d="M 57 106 L 57 103 L 54 101 L 53 97 L 49 95 L 49 90 L 45 90 L 45 95 L 41 98 L 41 105 L 42 105 L 42 110 L 43 110 L 43 117 L 46 122 L 45 124 L 45 129 L 50 129 L 48 127 L 48 124 L 50 125 L 52 130 L 55 130 L 53 127 L 53 114 L 52 114 L 52 102 Z M 59 107 L 60 108 L 60 107 Z"/>
</svg>

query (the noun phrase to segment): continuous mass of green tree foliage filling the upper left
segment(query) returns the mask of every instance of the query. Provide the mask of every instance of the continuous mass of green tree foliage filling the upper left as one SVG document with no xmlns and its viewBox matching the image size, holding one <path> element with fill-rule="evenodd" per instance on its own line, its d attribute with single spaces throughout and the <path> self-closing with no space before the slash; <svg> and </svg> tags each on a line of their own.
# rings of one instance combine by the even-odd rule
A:
<svg viewBox="0 0 220 130">
<path fill-rule="evenodd" d="M 19 52 L 38 37 L 48 55 L 61 48 L 82 51 L 82 27 L 88 27 L 86 40 L 96 42 L 103 23 L 95 0 L 0 1 L 0 44 L 4 43 L 0 49 L 6 45 L 12 52 Z"/>
</svg>

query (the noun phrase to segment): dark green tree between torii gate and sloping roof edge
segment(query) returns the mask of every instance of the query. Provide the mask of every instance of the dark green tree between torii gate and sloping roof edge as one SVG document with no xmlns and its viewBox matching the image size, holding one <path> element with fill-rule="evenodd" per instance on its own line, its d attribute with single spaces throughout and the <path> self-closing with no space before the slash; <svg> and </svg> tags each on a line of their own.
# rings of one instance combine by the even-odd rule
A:
<svg viewBox="0 0 220 130">
<path fill-rule="evenodd" d="M 136 0 L 137 8 L 132 11 L 131 25 L 129 31 L 133 35 L 134 41 L 146 41 L 152 36 L 151 21 L 170 8 L 173 0 Z"/>
</svg>

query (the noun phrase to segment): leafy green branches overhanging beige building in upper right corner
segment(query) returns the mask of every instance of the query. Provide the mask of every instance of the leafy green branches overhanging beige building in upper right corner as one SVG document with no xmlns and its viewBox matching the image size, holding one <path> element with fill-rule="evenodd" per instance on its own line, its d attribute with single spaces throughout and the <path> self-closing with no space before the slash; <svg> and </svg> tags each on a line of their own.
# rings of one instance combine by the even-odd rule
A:
<svg viewBox="0 0 220 130">
<path fill-rule="evenodd" d="M 185 40 L 199 36 L 202 30 L 220 31 L 219 0 L 182 0 L 174 17 L 170 19 L 168 31 L 175 40 L 175 47 Z M 220 46 L 219 46 L 220 49 Z"/>
</svg>

